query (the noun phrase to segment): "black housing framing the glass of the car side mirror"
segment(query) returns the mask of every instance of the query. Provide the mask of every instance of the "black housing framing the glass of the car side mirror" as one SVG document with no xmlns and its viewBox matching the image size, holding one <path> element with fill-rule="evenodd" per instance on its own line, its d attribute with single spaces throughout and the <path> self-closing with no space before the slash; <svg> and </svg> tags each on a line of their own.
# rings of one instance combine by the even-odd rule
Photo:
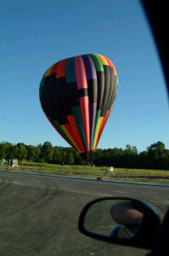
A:
<svg viewBox="0 0 169 256">
<path fill-rule="evenodd" d="M 89 229 L 86 228 L 86 219 L 88 219 L 87 215 L 89 215 L 88 212 L 90 212 L 92 207 L 94 207 L 96 204 L 102 205 L 104 201 L 109 201 L 109 203 L 117 202 L 118 204 L 129 202 L 129 203 L 132 203 L 132 206 L 136 206 L 134 210 L 137 211 L 139 209 L 139 212 L 143 213 L 142 214 L 143 217 L 141 218 L 141 222 L 138 226 L 138 230 L 133 236 L 129 236 L 127 238 L 122 238 L 117 236 L 116 237 L 105 236 L 104 233 L 100 234 L 95 231 L 93 232 L 93 230 L 90 230 L 90 228 Z M 102 211 L 99 211 L 99 214 L 100 212 Z M 95 213 L 97 214 L 97 212 Z M 110 215 L 110 212 L 108 214 Z M 124 212 L 124 214 L 126 215 L 127 212 Z M 90 216 L 92 215 L 90 214 Z M 124 217 L 128 218 L 128 216 L 124 216 Z M 94 225 L 94 221 L 95 221 L 95 218 L 94 216 L 92 216 L 92 218 L 90 219 L 90 223 L 92 223 L 93 226 L 96 226 Z M 139 200 L 127 198 L 127 197 L 104 197 L 104 198 L 96 199 L 94 201 L 90 201 L 89 203 L 87 203 L 87 205 L 82 209 L 82 212 L 79 218 L 78 227 L 79 227 L 79 230 L 84 235 L 93 237 L 95 239 L 99 239 L 101 241 L 108 241 L 110 243 L 115 243 L 115 244 L 120 244 L 125 246 L 153 249 L 155 246 L 156 237 L 158 236 L 160 224 L 161 224 L 161 221 L 159 216 L 155 212 L 155 209 L 149 206 L 149 204 L 147 204 L 144 201 L 139 201 Z M 97 227 L 96 227 L 96 230 L 97 230 Z"/>
</svg>

